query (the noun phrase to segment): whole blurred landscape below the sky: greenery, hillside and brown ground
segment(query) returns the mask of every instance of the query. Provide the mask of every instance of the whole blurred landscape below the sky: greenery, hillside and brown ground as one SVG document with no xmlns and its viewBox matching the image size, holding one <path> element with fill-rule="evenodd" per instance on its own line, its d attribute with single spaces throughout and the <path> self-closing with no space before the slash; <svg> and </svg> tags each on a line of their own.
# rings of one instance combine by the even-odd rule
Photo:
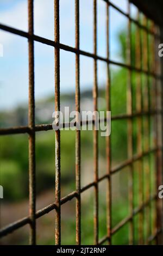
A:
<svg viewBox="0 0 163 256">
<path fill-rule="evenodd" d="M 135 64 L 135 27 L 132 33 L 132 55 Z M 126 63 L 126 31 L 118 34 L 120 41 L 120 55 Z M 105 67 L 106 68 L 106 67 Z M 111 114 L 126 113 L 127 102 L 127 78 L 128 71 L 124 68 L 111 68 Z M 133 109 L 136 105 L 136 80 L 132 77 L 133 86 Z M 145 80 L 145 79 L 144 79 Z M 99 110 L 105 110 L 105 84 L 100 84 Z M 81 101 L 84 106 L 92 106 L 92 92 L 82 92 Z M 52 123 L 54 97 L 36 102 L 36 124 Z M 61 106 L 74 108 L 74 94 L 61 94 Z M 91 108 L 91 107 L 90 107 Z M 87 109 L 89 110 L 89 109 Z M 27 125 L 27 106 L 18 106 L 12 112 L 1 112 L 1 127 L 15 125 Z M 152 121 L 152 120 L 151 120 Z M 153 129 L 153 126 L 152 128 Z M 134 154 L 136 154 L 137 123 L 134 120 Z M 147 135 L 144 133 L 144 136 Z M 92 131 L 81 131 L 81 175 L 82 186 L 93 180 L 93 138 Z M 28 215 L 28 136 L 10 135 L 1 136 L 1 185 L 4 187 L 4 200 L 1 201 L 1 227 L 17 220 L 19 217 Z M 152 140 L 152 138 L 151 138 Z M 55 136 L 54 131 L 36 133 L 36 191 L 37 209 L 54 202 L 55 190 Z M 111 160 L 112 167 L 127 159 L 127 120 L 117 120 L 111 123 Z M 151 180 L 154 191 L 154 157 L 150 156 Z M 144 160 L 145 168 L 148 157 Z M 99 176 L 106 173 L 105 137 L 99 132 Z M 134 206 L 139 205 L 139 165 L 134 163 Z M 112 176 L 112 227 L 123 218 L 129 216 L 129 168 Z M 99 184 L 99 238 L 106 235 L 106 188 L 107 181 Z M 61 131 L 61 196 L 66 196 L 75 190 L 75 131 Z M 154 205 L 151 205 L 154 209 Z M 61 207 L 61 243 L 75 243 L 75 200 Z M 154 211 L 153 211 L 154 215 Z M 54 218 L 55 213 L 43 216 L 37 220 L 37 243 L 54 243 Z M 153 217 L 154 219 L 154 217 Z M 148 219 L 146 220 L 148 222 Z M 139 216 L 134 217 L 135 237 L 134 243 L 138 242 Z M 146 223 L 147 224 L 147 223 Z M 145 228 L 145 227 L 144 227 Z M 21 228 L 13 234 L 2 239 L 2 243 L 26 244 L 28 243 L 28 227 Z M 145 229 L 146 230 L 146 229 Z M 146 234 L 147 235 L 147 234 Z M 124 225 L 117 234 L 113 235 L 113 244 L 128 244 L 129 224 Z M 93 190 L 82 193 L 82 244 L 93 243 Z"/>
</svg>

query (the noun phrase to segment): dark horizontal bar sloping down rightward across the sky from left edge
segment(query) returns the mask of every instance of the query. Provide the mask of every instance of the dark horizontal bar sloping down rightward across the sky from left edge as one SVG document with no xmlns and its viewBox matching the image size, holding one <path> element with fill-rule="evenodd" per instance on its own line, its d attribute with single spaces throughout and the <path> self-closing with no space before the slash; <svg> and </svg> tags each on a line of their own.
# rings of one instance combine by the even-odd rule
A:
<svg viewBox="0 0 163 256">
<path fill-rule="evenodd" d="M 135 66 L 130 66 L 128 64 L 116 62 L 114 60 L 110 60 L 110 59 L 107 59 L 107 58 L 104 58 L 104 57 L 101 57 L 101 56 L 97 56 L 94 53 L 82 51 L 82 50 L 79 50 L 77 48 L 74 48 L 74 47 L 71 47 L 71 46 L 68 46 L 68 45 L 60 44 L 59 42 L 55 42 L 55 41 L 52 41 L 52 40 L 49 40 L 49 39 L 46 39 L 46 38 L 42 38 L 41 36 L 37 36 L 37 35 L 32 35 L 31 36 L 27 32 L 20 31 L 19 29 L 11 28 L 11 27 L 8 27 L 8 26 L 2 25 L 2 24 L 0 24 L 0 29 L 3 29 L 4 31 L 10 32 L 10 33 L 13 33 L 13 34 L 16 34 L 16 35 L 23 36 L 27 39 L 32 39 L 34 41 L 41 42 L 42 44 L 46 44 L 46 45 L 49 45 L 49 46 L 53 46 L 55 48 L 59 48 L 61 50 L 65 50 L 65 51 L 68 51 L 68 52 L 80 54 L 80 55 L 90 57 L 90 58 L 93 58 L 93 59 L 96 59 L 96 60 L 102 60 L 103 62 L 106 62 L 108 64 L 121 66 L 122 68 L 126 68 L 126 69 L 133 70 L 133 71 L 136 71 L 136 72 L 142 72 L 143 74 L 151 75 L 151 76 L 155 77 L 156 79 L 160 79 L 160 80 L 162 79 L 161 75 L 155 74 L 154 72 L 149 72 L 148 70 L 139 69 L 139 68 L 136 68 Z"/>
</svg>

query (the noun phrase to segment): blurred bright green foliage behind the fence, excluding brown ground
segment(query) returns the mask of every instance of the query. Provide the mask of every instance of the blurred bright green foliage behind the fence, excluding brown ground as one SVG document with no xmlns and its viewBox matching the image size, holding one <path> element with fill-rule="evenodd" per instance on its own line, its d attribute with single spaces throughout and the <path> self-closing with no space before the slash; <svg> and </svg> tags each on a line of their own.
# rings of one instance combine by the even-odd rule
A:
<svg viewBox="0 0 163 256">
<path fill-rule="evenodd" d="M 118 38 L 120 40 L 120 55 L 123 62 L 126 62 L 126 31 L 122 31 Z M 132 65 L 135 64 L 135 27 L 132 27 L 131 33 L 131 56 Z M 133 109 L 136 109 L 136 74 L 132 74 L 133 88 Z M 111 70 L 111 115 L 127 113 L 127 82 L 128 70 L 116 68 Z M 85 96 L 91 95 L 88 91 Z M 104 90 L 99 90 L 99 95 L 105 99 Z M 64 96 L 64 100 L 72 100 L 74 95 Z M 102 110 L 102 109 L 101 109 Z M 3 113 L 1 113 L 3 116 Z M 133 123 L 133 141 L 134 153 L 136 153 L 136 133 L 137 125 Z M 61 131 L 61 184 L 64 189 L 75 189 L 75 131 Z M 92 131 L 81 132 L 82 161 L 89 162 L 93 157 Z M 28 198 L 28 136 L 13 135 L 1 136 L 1 185 L 4 187 L 4 198 L 12 202 Z M 99 159 L 105 161 L 105 137 L 99 136 Z M 127 120 L 113 120 L 111 123 L 111 159 L 114 164 L 127 159 Z M 151 160 L 153 167 L 154 160 Z M 82 162 L 83 163 L 83 162 Z M 87 173 L 90 172 L 90 166 L 87 166 Z M 152 168 L 154 169 L 154 168 Z M 134 191 L 138 194 L 138 173 L 134 172 Z M 83 174 L 82 174 L 83 175 Z M 153 175 L 154 176 L 154 175 Z M 151 179 L 152 177 L 151 176 Z M 55 134 L 54 131 L 43 131 L 36 133 L 36 190 L 39 194 L 42 191 L 54 188 L 55 186 Z M 121 179 L 123 187 L 123 179 Z M 152 184 L 152 187 L 154 185 Z M 102 213 L 99 217 L 101 225 L 100 237 L 106 235 L 106 209 L 103 194 L 101 194 Z M 128 216 L 128 198 L 120 198 L 118 202 L 112 203 L 112 225 L 116 225 L 124 216 Z M 89 202 L 82 204 L 82 243 L 89 245 L 93 243 L 93 198 Z M 139 202 L 138 196 L 134 197 L 134 205 Z M 89 210 L 87 210 L 89 208 Z M 75 230 L 74 218 L 68 218 L 62 222 L 65 230 L 63 234 L 63 244 L 74 243 L 74 236 L 71 230 Z M 129 227 L 125 225 L 112 237 L 113 244 L 128 243 Z M 136 236 L 136 235 L 135 235 Z M 53 244 L 53 240 L 43 240 L 42 244 Z"/>
</svg>

